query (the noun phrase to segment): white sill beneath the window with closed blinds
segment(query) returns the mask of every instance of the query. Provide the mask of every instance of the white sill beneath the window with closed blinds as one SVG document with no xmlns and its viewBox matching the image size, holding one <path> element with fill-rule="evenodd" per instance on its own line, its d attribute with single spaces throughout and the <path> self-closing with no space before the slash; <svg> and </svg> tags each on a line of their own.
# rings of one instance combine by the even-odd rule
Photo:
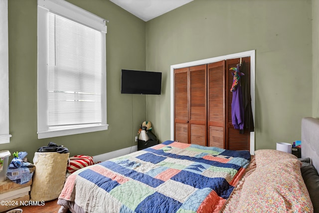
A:
<svg viewBox="0 0 319 213">
<path fill-rule="evenodd" d="M 52 137 L 65 136 L 65 135 L 75 135 L 75 134 L 81 134 L 81 133 L 103 131 L 103 130 L 107 130 L 108 126 L 109 126 L 108 124 L 103 124 L 98 126 L 89 126 L 89 127 L 80 127 L 80 128 L 48 130 L 48 131 L 37 132 L 37 134 L 38 134 L 38 139 L 52 138 Z"/>
</svg>

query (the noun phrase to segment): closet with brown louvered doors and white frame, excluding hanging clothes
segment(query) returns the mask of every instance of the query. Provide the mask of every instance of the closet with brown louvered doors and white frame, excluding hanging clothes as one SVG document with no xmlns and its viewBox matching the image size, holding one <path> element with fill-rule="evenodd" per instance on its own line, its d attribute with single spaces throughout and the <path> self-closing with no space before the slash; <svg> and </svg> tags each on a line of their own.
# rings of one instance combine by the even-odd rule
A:
<svg viewBox="0 0 319 213">
<path fill-rule="evenodd" d="M 241 66 L 240 59 L 246 64 L 248 74 L 243 78 L 250 84 L 246 89 L 250 89 L 250 114 L 255 122 L 255 50 L 175 64 L 170 66 L 171 140 L 232 150 L 247 149 L 254 154 L 254 130 L 248 128 L 239 134 L 231 124 L 232 93 L 228 90 L 233 76 L 229 68 Z"/>
</svg>

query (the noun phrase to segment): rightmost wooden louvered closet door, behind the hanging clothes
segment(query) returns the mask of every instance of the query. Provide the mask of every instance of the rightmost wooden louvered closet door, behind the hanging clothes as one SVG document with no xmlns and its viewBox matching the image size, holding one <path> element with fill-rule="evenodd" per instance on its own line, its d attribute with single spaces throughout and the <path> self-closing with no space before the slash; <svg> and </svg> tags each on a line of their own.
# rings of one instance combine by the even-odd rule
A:
<svg viewBox="0 0 319 213">
<path fill-rule="evenodd" d="M 250 79 L 250 57 L 242 58 L 245 61 L 247 73 L 241 78 Z M 240 134 L 238 129 L 234 129 L 231 117 L 231 103 L 233 93 L 230 91 L 233 84 L 233 76 L 230 68 L 236 67 L 240 62 L 239 58 L 226 60 L 226 149 L 229 150 L 249 150 L 250 149 L 250 132 L 245 129 L 244 134 Z"/>
</svg>

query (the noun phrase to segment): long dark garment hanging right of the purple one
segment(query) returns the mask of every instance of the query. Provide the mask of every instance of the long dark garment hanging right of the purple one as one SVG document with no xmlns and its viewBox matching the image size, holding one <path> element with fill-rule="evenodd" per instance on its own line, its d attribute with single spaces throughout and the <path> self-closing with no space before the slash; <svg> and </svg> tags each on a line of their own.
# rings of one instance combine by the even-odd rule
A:
<svg viewBox="0 0 319 213">
<path fill-rule="evenodd" d="M 245 61 L 243 61 L 241 65 L 242 73 L 246 74 L 245 77 L 240 79 L 240 85 L 242 88 L 243 94 L 243 107 L 244 107 L 244 129 L 248 129 L 250 132 L 255 131 L 254 119 L 253 119 L 253 111 L 251 106 L 251 95 L 250 95 L 250 84 L 249 84 L 249 76 L 247 72 L 247 67 Z"/>
</svg>

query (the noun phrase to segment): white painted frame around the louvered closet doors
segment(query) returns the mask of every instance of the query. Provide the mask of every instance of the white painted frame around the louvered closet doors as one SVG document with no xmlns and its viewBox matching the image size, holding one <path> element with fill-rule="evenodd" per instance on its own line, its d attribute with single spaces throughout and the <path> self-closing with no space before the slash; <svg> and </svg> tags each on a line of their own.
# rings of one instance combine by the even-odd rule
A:
<svg viewBox="0 0 319 213">
<path fill-rule="evenodd" d="M 212 62 L 217 62 L 221 60 L 227 60 L 232 58 L 240 58 L 250 56 L 250 95 L 252 101 L 252 113 L 253 119 L 255 120 L 255 52 L 256 50 L 249 50 L 245 52 L 239 52 L 229 55 L 223 55 L 213 58 L 207 58 L 197 61 L 191 61 L 186 63 L 174 64 L 170 66 L 170 139 L 174 140 L 174 69 L 196 66 L 201 64 L 208 64 Z M 250 132 L 250 154 L 255 154 L 255 132 Z"/>
</svg>

